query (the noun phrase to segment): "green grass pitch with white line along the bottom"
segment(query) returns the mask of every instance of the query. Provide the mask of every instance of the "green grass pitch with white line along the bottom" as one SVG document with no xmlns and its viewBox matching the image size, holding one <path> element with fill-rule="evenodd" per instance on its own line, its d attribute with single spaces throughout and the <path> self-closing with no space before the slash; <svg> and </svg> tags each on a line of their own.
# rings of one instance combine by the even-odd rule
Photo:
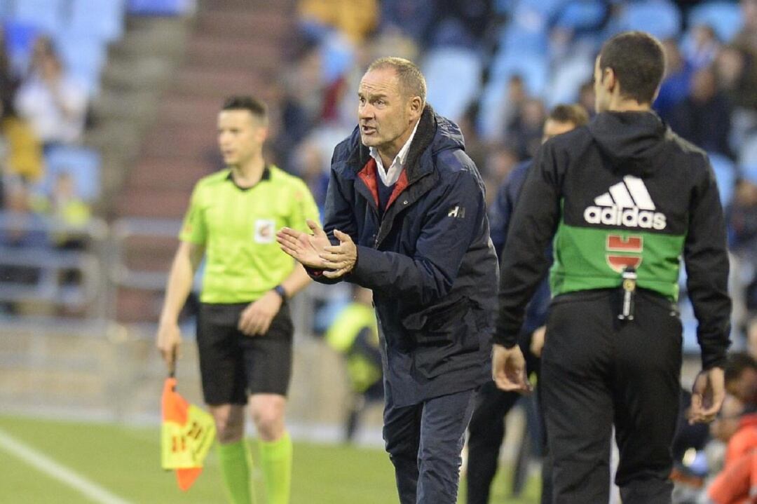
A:
<svg viewBox="0 0 757 504">
<path fill-rule="evenodd" d="M 214 450 L 204 473 L 182 493 L 173 474 L 160 469 L 158 436 L 154 428 L 98 423 L 56 422 L 0 416 L 0 435 L 42 453 L 98 487 L 134 504 L 223 504 Z M 23 504 L 79 504 L 88 499 L 39 468 L 22 462 L 0 443 L 0 502 Z M 351 446 L 295 443 L 292 504 L 389 504 L 397 502 L 394 474 L 382 450 Z M 492 504 L 536 502 L 537 481 L 529 481 L 522 499 L 507 499 L 500 471 Z M 259 478 L 259 476 L 258 476 Z M 260 487 L 257 481 L 256 487 Z M 465 484 L 462 484 L 464 492 Z M 99 502 L 107 502 L 101 500 Z M 262 496 L 257 500 L 264 504 Z M 462 499 L 461 499 L 461 502 Z"/>
</svg>

